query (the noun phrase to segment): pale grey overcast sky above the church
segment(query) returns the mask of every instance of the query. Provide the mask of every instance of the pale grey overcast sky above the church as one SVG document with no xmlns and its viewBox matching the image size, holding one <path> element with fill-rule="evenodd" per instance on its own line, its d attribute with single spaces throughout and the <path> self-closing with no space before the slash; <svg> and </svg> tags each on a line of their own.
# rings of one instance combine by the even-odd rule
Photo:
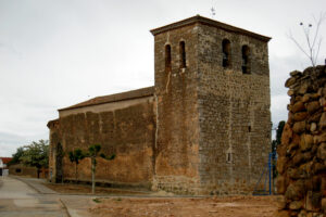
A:
<svg viewBox="0 0 326 217">
<path fill-rule="evenodd" d="M 58 108 L 153 86 L 150 29 L 197 14 L 269 36 L 272 120 L 287 118 L 284 82 L 309 66 L 301 40 L 325 0 L 0 0 L 0 156 L 48 139 Z M 326 11 L 326 10 L 325 10 Z M 326 21 L 318 63 L 326 58 Z"/>
</svg>

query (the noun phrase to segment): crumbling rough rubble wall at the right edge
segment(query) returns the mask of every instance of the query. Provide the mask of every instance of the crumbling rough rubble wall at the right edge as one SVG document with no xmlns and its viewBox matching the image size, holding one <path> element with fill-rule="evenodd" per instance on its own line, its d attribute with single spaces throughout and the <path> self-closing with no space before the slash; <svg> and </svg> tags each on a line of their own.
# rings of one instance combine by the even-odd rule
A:
<svg viewBox="0 0 326 217">
<path fill-rule="evenodd" d="M 291 97 L 277 149 L 278 216 L 326 215 L 326 67 L 290 73 Z"/>
</svg>

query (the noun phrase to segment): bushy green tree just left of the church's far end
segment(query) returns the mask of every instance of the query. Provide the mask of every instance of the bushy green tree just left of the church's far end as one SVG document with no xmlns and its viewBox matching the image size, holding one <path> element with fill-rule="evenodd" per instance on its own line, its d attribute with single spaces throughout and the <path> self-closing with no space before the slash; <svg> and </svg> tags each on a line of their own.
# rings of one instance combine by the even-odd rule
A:
<svg viewBox="0 0 326 217">
<path fill-rule="evenodd" d="M 38 142 L 33 141 L 29 145 L 23 146 L 20 150 L 20 162 L 25 165 L 40 168 L 48 168 L 49 166 L 49 141 L 39 140 Z"/>
</svg>

